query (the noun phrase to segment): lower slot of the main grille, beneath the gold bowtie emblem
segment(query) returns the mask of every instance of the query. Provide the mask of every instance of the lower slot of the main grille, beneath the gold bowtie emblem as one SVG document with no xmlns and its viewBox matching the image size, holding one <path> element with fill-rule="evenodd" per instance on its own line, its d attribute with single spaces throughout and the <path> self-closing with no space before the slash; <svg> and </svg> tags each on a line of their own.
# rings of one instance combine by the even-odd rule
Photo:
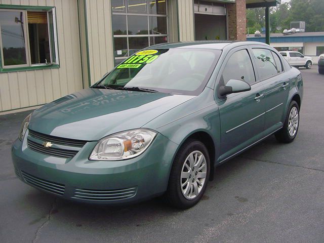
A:
<svg viewBox="0 0 324 243">
<path fill-rule="evenodd" d="M 46 148 L 42 144 L 36 143 L 29 139 L 27 139 L 27 146 L 31 150 L 34 150 L 38 153 L 43 153 L 43 154 L 47 154 L 55 157 L 61 157 L 61 158 L 71 158 L 78 152 L 77 150 L 68 150 L 62 148 L 52 148 L 52 147 Z"/>
</svg>

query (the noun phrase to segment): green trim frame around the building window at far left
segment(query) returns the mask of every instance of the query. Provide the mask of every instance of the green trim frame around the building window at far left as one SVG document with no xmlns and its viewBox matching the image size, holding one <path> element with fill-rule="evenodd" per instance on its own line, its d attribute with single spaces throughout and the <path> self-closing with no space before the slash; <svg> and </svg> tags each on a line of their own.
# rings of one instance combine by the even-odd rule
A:
<svg viewBox="0 0 324 243">
<path fill-rule="evenodd" d="M 54 6 L 26 6 L 26 5 L 0 4 L 0 9 L 25 10 L 25 11 L 47 11 L 47 12 L 54 9 L 55 10 L 55 31 L 56 31 L 55 39 L 57 42 L 56 43 L 57 63 L 39 64 L 39 65 L 30 65 L 30 66 L 12 67 L 12 68 L 6 66 L 5 68 L 3 68 L 2 55 L 0 55 L 0 73 L 60 68 L 60 64 L 59 64 L 60 57 L 59 57 L 59 47 L 58 47 L 58 37 L 57 37 L 58 31 L 57 31 L 56 7 L 54 7 Z M 29 50 L 28 50 L 28 52 L 29 52 Z"/>
</svg>

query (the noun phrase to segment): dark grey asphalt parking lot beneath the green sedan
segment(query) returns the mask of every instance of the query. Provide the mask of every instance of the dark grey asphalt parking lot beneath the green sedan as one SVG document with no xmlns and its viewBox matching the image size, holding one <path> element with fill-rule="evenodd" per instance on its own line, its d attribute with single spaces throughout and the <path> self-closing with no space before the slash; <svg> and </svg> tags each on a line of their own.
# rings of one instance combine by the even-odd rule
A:
<svg viewBox="0 0 324 243">
<path fill-rule="evenodd" d="M 75 204 L 22 183 L 10 147 L 29 112 L 0 116 L 0 242 L 324 242 L 324 75 L 300 70 L 296 140 L 271 136 L 218 167 L 203 200 L 185 211 L 159 199 Z"/>
</svg>

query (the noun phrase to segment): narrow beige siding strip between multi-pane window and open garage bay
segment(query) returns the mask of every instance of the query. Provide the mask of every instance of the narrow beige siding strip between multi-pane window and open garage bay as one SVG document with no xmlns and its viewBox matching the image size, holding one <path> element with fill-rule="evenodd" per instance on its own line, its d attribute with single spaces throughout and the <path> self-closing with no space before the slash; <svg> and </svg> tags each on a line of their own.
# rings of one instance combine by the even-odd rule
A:
<svg viewBox="0 0 324 243">
<path fill-rule="evenodd" d="M 180 42 L 194 41 L 193 0 L 178 0 Z"/>
</svg>

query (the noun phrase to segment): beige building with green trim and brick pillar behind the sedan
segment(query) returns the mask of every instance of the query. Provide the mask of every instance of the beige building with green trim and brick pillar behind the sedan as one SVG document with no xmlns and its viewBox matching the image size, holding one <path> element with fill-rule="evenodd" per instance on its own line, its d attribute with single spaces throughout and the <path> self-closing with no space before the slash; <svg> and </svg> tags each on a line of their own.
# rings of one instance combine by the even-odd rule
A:
<svg viewBox="0 0 324 243">
<path fill-rule="evenodd" d="M 0 0 L 0 114 L 87 88 L 138 50 L 246 40 L 246 9 L 280 0 Z"/>
</svg>

